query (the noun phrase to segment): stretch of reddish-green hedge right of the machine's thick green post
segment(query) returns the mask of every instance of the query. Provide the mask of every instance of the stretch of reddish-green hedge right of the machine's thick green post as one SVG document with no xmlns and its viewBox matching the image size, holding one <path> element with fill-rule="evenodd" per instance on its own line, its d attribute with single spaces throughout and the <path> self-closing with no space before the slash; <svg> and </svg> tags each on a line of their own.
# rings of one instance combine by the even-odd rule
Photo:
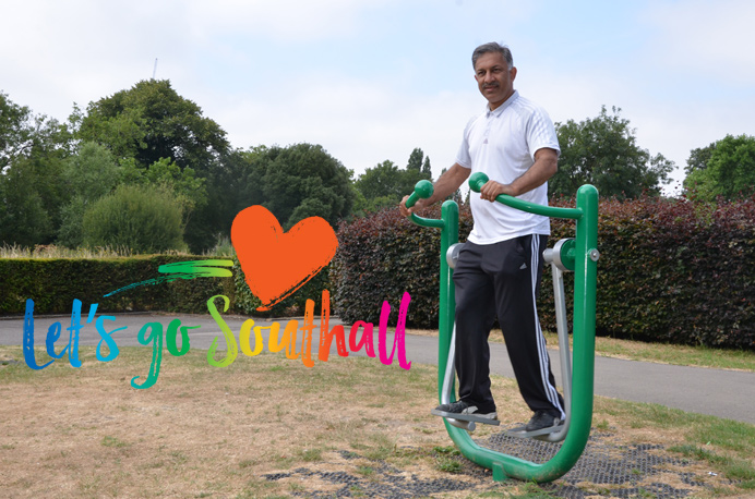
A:
<svg viewBox="0 0 755 499">
<path fill-rule="evenodd" d="M 755 350 L 755 199 L 601 209 L 599 333 Z"/>
</svg>

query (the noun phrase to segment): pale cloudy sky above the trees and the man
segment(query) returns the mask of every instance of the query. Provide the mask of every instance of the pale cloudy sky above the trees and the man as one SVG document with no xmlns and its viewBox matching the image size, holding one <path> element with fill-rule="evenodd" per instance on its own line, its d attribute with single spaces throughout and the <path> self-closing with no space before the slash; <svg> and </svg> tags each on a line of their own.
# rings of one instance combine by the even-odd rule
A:
<svg viewBox="0 0 755 499">
<path fill-rule="evenodd" d="M 36 114 L 169 80 L 236 148 L 322 145 L 353 171 L 420 147 L 436 178 L 484 110 L 471 52 L 507 45 L 554 122 L 621 108 L 675 162 L 755 135 L 755 2 L 0 0 L 0 92 Z"/>
</svg>

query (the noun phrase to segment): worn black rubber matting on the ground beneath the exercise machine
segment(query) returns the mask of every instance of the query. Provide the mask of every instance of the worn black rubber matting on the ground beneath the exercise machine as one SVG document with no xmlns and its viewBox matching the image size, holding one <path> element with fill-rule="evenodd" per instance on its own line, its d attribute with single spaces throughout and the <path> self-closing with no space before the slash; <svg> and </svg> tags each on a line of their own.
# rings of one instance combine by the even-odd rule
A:
<svg viewBox="0 0 755 499">
<path fill-rule="evenodd" d="M 707 486 L 695 482 L 695 474 L 684 468 L 690 462 L 669 457 L 662 446 L 630 445 L 621 446 L 611 440 L 611 434 L 594 433 L 585 452 L 574 467 L 564 476 L 539 487 L 550 497 L 564 499 L 585 499 L 587 497 L 637 498 L 652 497 L 676 499 L 695 497 Z M 495 434 L 484 440 L 477 440 L 483 447 L 513 455 L 534 463 L 550 460 L 559 450 L 560 443 L 510 437 L 504 433 Z M 451 442 L 450 442 L 451 443 Z M 286 473 L 264 475 L 268 480 L 296 478 L 298 489 L 290 491 L 291 497 L 301 498 L 384 498 L 412 499 L 427 498 L 448 491 L 468 491 L 474 497 L 499 487 L 520 484 L 507 480 L 495 484 L 489 470 L 482 468 L 462 455 L 451 459 L 458 462 L 457 473 L 447 473 L 442 478 L 422 478 L 407 473 L 381 460 L 369 460 L 371 473 L 364 476 L 349 466 L 348 461 L 364 460 L 363 457 L 339 451 L 346 461 L 317 464 L 316 470 L 299 467 Z M 323 471 L 332 467 L 332 471 Z M 663 478 L 661 478 L 663 475 Z M 669 480 L 673 475 L 675 479 Z M 657 482 L 656 482 L 657 478 Z M 675 486 L 666 482 L 673 482 Z M 308 490 L 308 483 L 311 490 Z M 323 486 L 325 484 L 325 486 Z M 682 484 L 682 485 L 680 485 Z M 326 488 L 327 490 L 322 490 Z"/>
</svg>

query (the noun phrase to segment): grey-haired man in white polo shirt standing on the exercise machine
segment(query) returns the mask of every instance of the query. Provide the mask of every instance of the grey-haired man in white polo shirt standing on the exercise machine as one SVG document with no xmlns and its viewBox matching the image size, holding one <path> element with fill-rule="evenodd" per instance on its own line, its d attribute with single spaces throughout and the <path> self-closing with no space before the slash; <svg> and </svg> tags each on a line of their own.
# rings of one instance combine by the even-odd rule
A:
<svg viewBox="0 0 755 499">
<path fill-rule="evenodd" d="M 488 100 L 486 112 L 467 124 L 456 163 L 438 180 L 432 197 L 407 208 L 407 196 L 400 209 L 407 216 L 445 199 L 472 172 L 488 174 L 480 194 L 470 195 L 475 226 L 454 269 L 458 401 L 438 410 L 498 418 L 488 345 L 498 317 L 519 391 L 535 413 L 526 430 L 534 431 L 558 426 L 564 417 L 536 307 L 550 220 L 495 198 L 508 194 L 547 205 L 559 141 L 546 111 L 514 89 L 516 68 L 507 47 L 478 47 L 472 66 Z"/>
</svg>

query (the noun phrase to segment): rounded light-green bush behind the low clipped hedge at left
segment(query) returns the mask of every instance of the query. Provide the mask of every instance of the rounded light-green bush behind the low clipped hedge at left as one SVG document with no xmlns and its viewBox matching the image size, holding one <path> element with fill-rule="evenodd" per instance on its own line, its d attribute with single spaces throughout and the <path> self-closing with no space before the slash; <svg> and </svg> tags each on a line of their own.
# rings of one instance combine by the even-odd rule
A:
<svg viewBox="0 0 755 499">
<path fill-rule="evenodd" d="M 152 185 L 119 185 L 84 212 L 84 242 L 91 247 L 129 247 L 161 253 L 184 247 L 181 207 Z"/>
</svg>

